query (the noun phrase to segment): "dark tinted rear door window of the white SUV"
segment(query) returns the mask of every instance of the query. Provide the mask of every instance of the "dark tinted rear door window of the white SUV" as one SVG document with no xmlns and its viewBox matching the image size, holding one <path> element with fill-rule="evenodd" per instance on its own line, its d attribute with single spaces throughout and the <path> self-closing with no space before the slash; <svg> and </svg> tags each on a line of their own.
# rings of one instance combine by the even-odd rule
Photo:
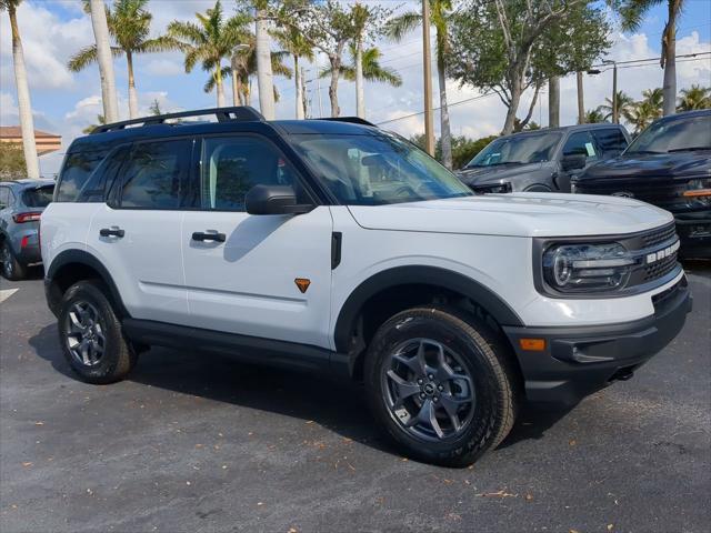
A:
<svg viewBox="0 0 711 533">
<path fill-rule="evenodd" d="M 180 209 L 191 147 L 189 139 L 134 144 L 121 170 L 121 207 Z"/>
</svg>

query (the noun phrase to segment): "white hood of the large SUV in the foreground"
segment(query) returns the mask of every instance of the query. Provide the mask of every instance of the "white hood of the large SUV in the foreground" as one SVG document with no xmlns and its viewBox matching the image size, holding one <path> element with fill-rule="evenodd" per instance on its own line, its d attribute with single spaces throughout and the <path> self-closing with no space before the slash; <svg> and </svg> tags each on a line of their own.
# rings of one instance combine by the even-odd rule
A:
<svg viewBox="0 0 711 533">
<path fill-rule="evenodd" d="M 507 237 L 625 234 L 673 220 L 667 211 L 627 198 L 537 192 L 348 209 L 370 230 Z"/>
</svg>

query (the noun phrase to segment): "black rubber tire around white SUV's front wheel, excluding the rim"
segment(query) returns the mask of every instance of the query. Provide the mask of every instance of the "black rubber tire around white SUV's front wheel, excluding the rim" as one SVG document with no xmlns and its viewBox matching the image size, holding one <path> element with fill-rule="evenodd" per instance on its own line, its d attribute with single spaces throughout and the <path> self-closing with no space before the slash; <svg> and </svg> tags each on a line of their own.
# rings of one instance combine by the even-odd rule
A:
<svg viewBox="0 0 711 533">
<path fill-rule="evenodd" d="M 385 376 L 385 372 L 388 369 L 392 369 L 391 364 L 403 364 L 401 362 L 393 363 L 395 360 L 401 361 L 402 358 L 397 359 L 392 353 L 398 350 L 398 346 L 408 345 L 409 342 L 422 343 L 422 340 L 428 340 L 424 342 L 425 344 L 432 340 L 433 344 L 443 346 L 441 351 L 435 348 L 437 353 L 447 351 L 448 354 L 457 354 L 458 361 L 461 362 L 458 366 L 460 374 L 468 373 L 471 380 L 472 396 L 475 401 L 463 403 L 464 408 L 458 408 L 469 406 L 471 410 L 467 424 L 460 424 L 459 433 L 452 423 L 451 435 L 438 433 L 428 438 L 428 435 L 413 434 L 417 426 L 414 430 L 405 428 L 408 422 L 402 419 L 408 416 L 412 420 L 417 416 L 410 416 L 410 413 L 403 414 L 402 408 L 400 408 L 399 414 L 395 414 L 395 408 L 391 406 L 393 384 L 389 381 L 391 378 Z M 437 354 L 434 356 L 437 359 Z M 499 336 L 473 316 L 458 310 L 440 306 L 403 311 L 380 326 L 368 350 L 365 390 L 371 410 L 387 434 L 404 450 L 407 455 L 444 466 L 467 466 L 488 450 L 498 446 L 513 426 L 518 412 L 518 394 L 515 374 L 509 358 L 508 349 Z M 412 371 L 410 364 L 413 360 L 417 360 L 417 356 L 408 359 L 405 372 Z M 428 360 L 428 364 L 430 360 Z M 414 375 L 415 372 L 411 372 L 411 374 Z M 428 379 L 431 378 L 424 379 L 425 385 Z M 437 376 L 434 378 L 437 380 Z M 433 381 L 432 383 L 440 391 L 444 391 L 439 394 L 453 398 L 451 394 L 447 394 L 449 385 L 444 385 L 442 389 L 439 382 Z M 400 390 L 398 385 L 394 386 Z M 407 386 L 408 390 L 412 390 L 415 383 L 408 382 Z M 431 390 L 427 392 L 430 394 Z M 419 393 L 410 392 L 409 394 L 412 396 L 407 401 L 417 402 L 417 404 L 411 403 L 414 408 L 412 411 L 420 409 L 420 404 L 425 401 L 425 398 L 438 401 L 435 396 L 425 396 L 425 391 L 422 389 Z M 440 410 L 437 411 L 439 414 L 435 416 L 443 415 L 444 423 L 447 423 L 449 413 L 442 411 L 443 399 L 440 398 L 439 402 L 439 406 L 434 406 Z M 459 421 L 459 412 L 457 420 Z M 437 425 L 441 428 L 442 422 L 438 422 Z"/>
</svg>

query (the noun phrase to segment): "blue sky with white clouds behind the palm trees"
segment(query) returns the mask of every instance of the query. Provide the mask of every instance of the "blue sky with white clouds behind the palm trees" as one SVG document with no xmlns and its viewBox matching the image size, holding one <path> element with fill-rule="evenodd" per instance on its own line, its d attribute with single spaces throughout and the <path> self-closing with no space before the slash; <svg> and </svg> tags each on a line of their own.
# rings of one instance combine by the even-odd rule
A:
<svg viewBox="0 0 711 533">
<path fill-rule="evenodd" d="M 222 0 L 226 12 L 233 10 L 231 0 Z M 412 0 L 371 1 L 369 3 L 388 4 L 395 10 L 417 9 L 419 2 Z M 660 39 L 667 19 L 665 3 L 650 10 L 640 29 L 634 33 L 622 33 L 614 17 L 613 46 L 607 59 L 627 61 L 658 57 Z M 203 12 L 212 7 L 214 0 L 151 0 L 149 10 L 153 13 L 151 32 L 158 36 L 164 32 L 172 20 L 192 20 L 197 11 Z M 71 141 L 81 135 L 81 130 L 97 122 L 102 112 L 101 90 L 98 67 L 91 66 L 79 73 L 67 69 L 67 61 L 81 48 L 93 43 L 93 32 L 88 14 L 82 10 L 80 0 L 24 0 L 18 10 L 18 21 L 24 48 L 34 127 L 62 135 L 62 150 L 40 158 L 43 175 L 52 177 L 59 171 L 63 152 Z M 421 30 L 405 36 L 400 43 L 379 41 L 375 43 L 383 52 L 382 63 L 395 69 L 403 84 L 393 88 L 382 83 L 365 83 L 365 105 L 368 120 L 382 123 L 383 128 L 397 131 L 405 137 L 421 133 L 424 129 L 421 112 L 423 107 L 422 81 L 422 34 Z M 678 23 L 677 53 L 688 54 L 711 52 L 711 1 L 687 0 L 684 11 Z M 320 67 L 326 58 L 320 58 Z M 308 79 L 316 76 L 318 67 L 308 66 Z M 164 111 L 182 111 L 216 107 L 214 92 L 204 93 L 202 87 L 208 74 L 200 68 L 187 74 L 180 52 L 152 53 L 134 59 L 136 80 L 139 91 L 139 104 L 143 113 L 158 100 Z M 711 56 L 695 60 L 680 60 L 677 67 L 678 88 L 692 83 L 711 86 Z M 122 118 L 128 118 L 128 81 L 126 60 L 114 60 L 119 108 Z M 433 88 L 437 94 L 437 73 L 433 69 Z M 274 78 L 281 94 L 277 104 L 278 119 L 294 117 L 293 80 Z M 229 83 L 229 82 L 228 82 Z M 620 69 L 619 89 L 635 99 L 641 98 L 644 89 L 661 87 L 662 70 L 658 63 L 644 67 Z M 258 104 L 257 82 L 253 82 L 253 102 Z M 313 115 L 320 115 L 319 92 L 324 115 L 329 113 L 327 81 L 316 80 L 308 83 Z M 231 102 L 229 84 L 226 87 L 228 102 Z M 457 81 L 447 83 L 450 102 L 450 119 L 454 135 L 473 139 L 501 131 L 505 108 L 497 95 L 482 95 L 478 90 L 463 87 Z M 584 77 L 585 109 L 594 109 L 604 102 L 612 92 L 612 72 L 604 70 L 597 76 Z M 473 99 L 474 97 L 480 97 Z M 531 94 L 524 94 L 519 115 L 525 114 Z M 473 100 L 471 100 L 473 99 Z M 342 115 L 356 114 L 354 84 L 341 80 L 339 100 Z M 533 113 L 533 120 L 542 125 L 548 121 L 545 90 L 542 91 Z M 462 103 L 458 103 L 462 102 Z M 437 104 L 435 104 L 437 107 Z M 575 77 L 561 81 L 561 124 L 571 124 L 577 120 Z M 0 124 L 18 123 L 17 93 L 12 70 L 12 47 L 10 24 L 7 13 L 0 13 Z M 439 115 L 434 118 L 439 130 Z"/>
</svg>

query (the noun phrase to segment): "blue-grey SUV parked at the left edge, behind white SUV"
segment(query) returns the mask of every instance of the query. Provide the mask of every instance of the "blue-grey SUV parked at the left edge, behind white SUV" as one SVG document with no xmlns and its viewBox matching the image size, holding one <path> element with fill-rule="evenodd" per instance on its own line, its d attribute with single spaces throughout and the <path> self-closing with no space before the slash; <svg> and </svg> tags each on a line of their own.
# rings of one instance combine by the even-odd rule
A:
<svg viewBox="0 0 711 533">
<path fill-rule="evenodd" d="M 0 261 L 2 275 L 21 280 L 27 266 L 42 261 L 40 215 L 52 201 L 53 180 L 17 180 L 0 183 Z"/>
</svg>

